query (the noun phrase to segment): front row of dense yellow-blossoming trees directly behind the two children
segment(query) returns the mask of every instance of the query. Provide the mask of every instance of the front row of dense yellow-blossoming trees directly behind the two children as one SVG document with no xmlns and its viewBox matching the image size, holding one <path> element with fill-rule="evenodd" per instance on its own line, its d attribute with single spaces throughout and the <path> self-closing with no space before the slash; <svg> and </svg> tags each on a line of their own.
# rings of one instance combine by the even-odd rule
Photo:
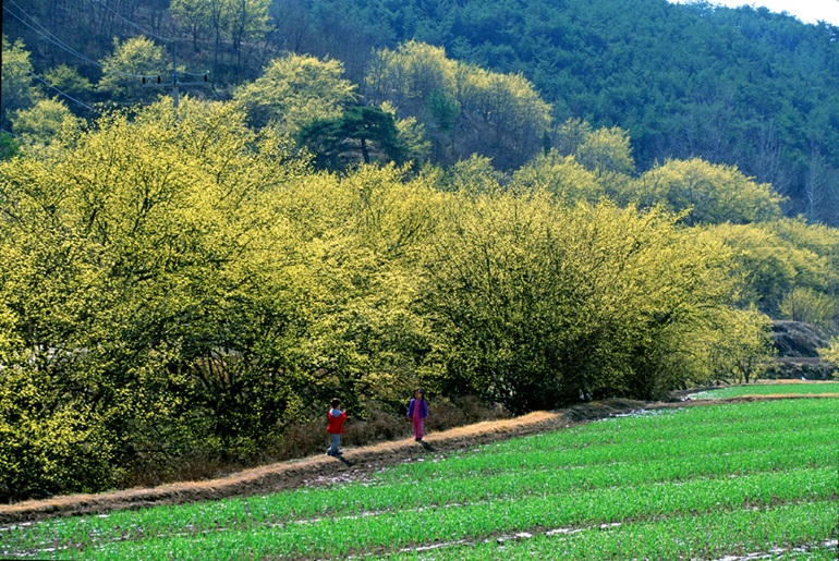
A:
<svg viewBox="0 0 839 561">
<path fill-rule="evenodd" d="M 0 163 L 4 497 L 254 458 L 333 394 L 523 412 L 767 354 L 735 254 L 684 215 L 513 188 L 479 159 L 319 172 L 247 122 L 160 101 Z"/>
</svg>

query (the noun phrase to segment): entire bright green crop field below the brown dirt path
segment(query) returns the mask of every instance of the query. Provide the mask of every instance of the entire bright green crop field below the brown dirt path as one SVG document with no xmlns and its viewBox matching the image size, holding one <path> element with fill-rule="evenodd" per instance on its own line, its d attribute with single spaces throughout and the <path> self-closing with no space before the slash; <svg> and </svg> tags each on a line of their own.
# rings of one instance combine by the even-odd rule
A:
<svg viewBox="0 0 839 561">
<path fill-rule="evenodd" d="M 839 399 L 621 415 L 331 488 L 0 528 L 38 559 L 835 559 Z"/>
</svg>

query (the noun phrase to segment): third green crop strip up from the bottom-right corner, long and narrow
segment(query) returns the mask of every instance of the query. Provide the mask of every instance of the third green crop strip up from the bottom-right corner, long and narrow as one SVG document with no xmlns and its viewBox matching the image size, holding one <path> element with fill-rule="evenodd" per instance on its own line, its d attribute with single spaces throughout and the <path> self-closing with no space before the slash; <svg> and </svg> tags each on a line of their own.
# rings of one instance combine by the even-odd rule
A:
<svg viewBox="0 0 839 561">
<path fill-rule="evenodd" d="M 65 521 L 32 526 L 29 542 L 84 542 L 92 534 L 98 539 L 139 539 L 155 535 L 193 533 L 196 528 L 221 525 L 230 528 L 242 521 L 248 525 L 277 524 L 317 516 L 345 516 L 402 509 L 445 507 L 476 500 L 511 499 L 523 495 L 560 495 L 609 487 L 649 483 L 676 483 L 688 478 L 754 474 L 790 469 L 799 465 L 835 465 L 836 453 L 826 447 L 777 450 L 761 454 L 737 453 L 727 456 L 680 458 L 643 464 L 598 465 L 586 469 L 525 471 L 488 478 L 465 480 L 434 478 L 424 480 L 422 493 L 413 481 L 391 486 L 345 486 L 336 489 L 296 491 L 268 498 L 224 501 L 207 505 L 169 508 L 173 515 L 158 509 L 155 516 L 141 513 L 114 513 L 107 519 L 86 519 L 85 523 Z M 146 520 L 143 520 L 146 519 Z"/>
</svg>

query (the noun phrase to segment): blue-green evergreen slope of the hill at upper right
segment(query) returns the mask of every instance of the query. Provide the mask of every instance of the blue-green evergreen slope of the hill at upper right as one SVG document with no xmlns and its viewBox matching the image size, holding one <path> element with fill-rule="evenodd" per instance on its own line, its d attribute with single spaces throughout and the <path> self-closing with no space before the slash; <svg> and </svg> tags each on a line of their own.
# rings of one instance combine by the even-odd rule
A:
<svg viewBox="0 0 839 561">
<path fill-rule="evenodd" d="M 292 0 L 285 0 L 292 3 Z M 569 117 L 630 131 L 640 169 L 737 164 L 839 222 L 839 28 L 761 8 L 666 0 L 324 0 L 348 45 L 415 38 L 521 72 Z M 307 22 L 309 23 L 309 22 Z M 302 22 L 287 22 L 290 26 Z M 349 54 L 349 52 L 346 53 Z"/>
</svg>

